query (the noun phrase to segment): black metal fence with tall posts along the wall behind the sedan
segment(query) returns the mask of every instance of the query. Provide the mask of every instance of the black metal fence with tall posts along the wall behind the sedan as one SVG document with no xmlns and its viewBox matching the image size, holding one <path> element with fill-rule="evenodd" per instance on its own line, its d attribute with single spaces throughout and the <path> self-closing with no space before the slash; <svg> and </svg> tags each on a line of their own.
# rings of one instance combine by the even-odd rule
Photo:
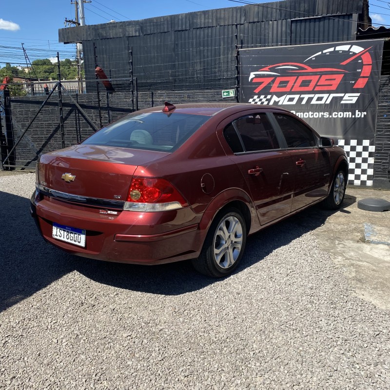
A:
<svg viewBox="0 0 390 390">
<path fill-rule="evenodd" d="M 239 67 L 238 41 L 235 35 L 234 59 L 236 66 L 236 94 L 229 100 L 238 101 Z M 80 142 L 92 132 L 138 109 L 161 105 L 165 100 L 174 103 L 219 101 L 218 90 L 139 91 L 133 77 L 133 54 L 129 48 L 129 73 L 126 77 L 110 78 L 98 66 L 94 45 L 95 78 L 61 80 L 59 54 L 58 79 L 29 81 L 7 85 L 7 132 L 2 132 L 1 169 L 35 168 L 42 153 L 64 148 Z M 85 93 L 86 84 L 94 85 Z M 115 85 L 115 87 L 113 86 Z M 4 118 L 5 120 L 5 118 Z"/>
</svg>

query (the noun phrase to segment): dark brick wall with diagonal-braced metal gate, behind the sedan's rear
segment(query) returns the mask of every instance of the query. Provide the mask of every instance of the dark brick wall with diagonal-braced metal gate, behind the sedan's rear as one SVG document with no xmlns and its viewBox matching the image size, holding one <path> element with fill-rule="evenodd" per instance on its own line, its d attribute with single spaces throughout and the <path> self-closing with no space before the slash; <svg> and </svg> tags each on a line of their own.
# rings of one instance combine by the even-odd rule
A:
<svg viewBox="0 0 390 390">
<path fill-rule="evenodd" d="M 137 93 L 136 89 L 133 108 L 129 90 L 109 93 L 98 82 L 99 95 L 71 94 L 58 83 L 47 96 L 8 98 L 9 130 L 8 137 L 3 137 L 2 169 L 34 169 L 41 154 L 76 144 L 101 126 L 136 109 L 162 105 L 166 100 L 174 103 L 226 101 L 221 90 Z"/>
</svg>

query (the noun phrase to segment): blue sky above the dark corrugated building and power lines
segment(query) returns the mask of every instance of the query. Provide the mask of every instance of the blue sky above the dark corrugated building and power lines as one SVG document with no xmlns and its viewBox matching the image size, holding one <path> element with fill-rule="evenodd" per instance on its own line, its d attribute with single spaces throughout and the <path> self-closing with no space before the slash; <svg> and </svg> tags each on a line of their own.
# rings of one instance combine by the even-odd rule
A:
<svg viewBox="0 0 390 390">
<path fill-rule="evenodd" d="M 390 1 L 369 2 L 373 23 L 390 27 Z M 86 24 L 98 24 L 239 5 L 230 0 L 92 0 L 84 9 Z M 72 58 L 74 47 L 58 43 L 58 30 L 64 27 L 65 18 L 75 18 L 75 6 L 70 0 L 1 1 L 0 66 L 5 61 L 22 64 L 22 42 L 31 60 L 54 57 L 57 51 L 60 58 Z"/>
</svg>

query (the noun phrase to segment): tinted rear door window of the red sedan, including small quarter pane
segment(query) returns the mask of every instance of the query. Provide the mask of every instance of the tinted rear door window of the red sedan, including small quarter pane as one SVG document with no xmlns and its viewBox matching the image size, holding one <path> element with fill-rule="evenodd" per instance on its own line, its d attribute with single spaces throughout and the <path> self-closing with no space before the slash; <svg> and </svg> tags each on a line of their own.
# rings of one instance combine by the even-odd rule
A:
<svg viewBox="0 0 390 390">
<path fill-rule="evenodd" d="M 237 136 L 237 132 L 239 137 Z M 244 152 L 257 152 L 280 148 L 276 134 L 266 114 L 247 115 L 234 120 L 233 123 L 225 128 L 224 136 L 234 153 L 243 152 L 242 144 L 245 148 Z M 239 138 L 241 138 L 242 144 Z"/>
</svg>

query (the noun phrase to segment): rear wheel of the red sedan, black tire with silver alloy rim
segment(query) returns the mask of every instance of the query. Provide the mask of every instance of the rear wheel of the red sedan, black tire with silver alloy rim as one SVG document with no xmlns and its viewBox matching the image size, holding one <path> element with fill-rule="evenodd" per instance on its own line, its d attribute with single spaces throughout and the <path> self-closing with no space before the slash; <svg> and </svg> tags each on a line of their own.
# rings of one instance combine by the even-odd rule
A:
<svg viewBox="0 0 390 390">
<path fill-rule="evenodd" d="M 244 254 L 246 238 L 246 224 L 239 210 L 223 210 L 214 218 L 199 257 L 192 261 L 195 270 L 211 277 L 230 275 Z"/>
</svg>

